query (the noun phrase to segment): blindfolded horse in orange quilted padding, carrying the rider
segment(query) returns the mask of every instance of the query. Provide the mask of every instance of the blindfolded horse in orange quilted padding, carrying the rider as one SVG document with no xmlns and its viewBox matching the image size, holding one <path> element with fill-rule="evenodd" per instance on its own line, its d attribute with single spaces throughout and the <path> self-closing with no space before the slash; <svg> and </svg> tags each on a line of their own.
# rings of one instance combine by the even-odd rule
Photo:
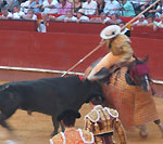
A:
<svg viewBox="0 0 163 144">
<path fill-rule="evenodd" d="M 118 112 L 125 130 L 140 129 L 141 138 L 148 136 L 146 123 L 150 121 L 158 125 L 163 135 L 163 125 L 159 119 L 152 97 L 154 90 L 151 86 L 147 62 L 148 56 L 143 60 L 135 56 L 133 62 L 120 66 L 115 64 L 109 69 L 108 82 L 102 86 L 105 96 L 104 106 Z M 88 75 L 96 64 L 89 66 L 85 74 Z"/>
</svg>

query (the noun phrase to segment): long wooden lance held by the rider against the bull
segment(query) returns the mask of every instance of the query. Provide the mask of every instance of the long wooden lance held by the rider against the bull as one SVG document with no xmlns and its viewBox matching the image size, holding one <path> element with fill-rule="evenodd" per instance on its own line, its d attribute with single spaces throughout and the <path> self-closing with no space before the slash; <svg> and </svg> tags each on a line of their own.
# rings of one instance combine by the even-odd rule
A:
<svg viewBox="0 0 163 144">
<path fill-rule="evenodd" d="M 121 29 L 124 29 L 126 26 L 130 25 L 135 19 L 137 19 L 140 15 L 146 13 L 149 9 L 151 9 L 153 5 L 155 5 L 160 0 L 156 0 L 151 5 L 149 5 L 147 9 L 145 9 L 141 13 L 139 13 L 136 17 L 131 18 L 128 23 L 126 23 Z M 79 60 L 76 64 L 74 64 L 70 69 L 67 69 L 61 77 L 64 77 L 67 75 L 72 69 L 77 67 L 80 63 L 83 63 L 87 57 L 89 57 L 92 53 L 95 53 L 97 50 L 99 50 L 101 47 L 103 47 L 105 41 L 102 41 L 97 45 L 92 51 L 90 51 L 87 55 L 85 55 L 82 60 Z"/>
</svg>

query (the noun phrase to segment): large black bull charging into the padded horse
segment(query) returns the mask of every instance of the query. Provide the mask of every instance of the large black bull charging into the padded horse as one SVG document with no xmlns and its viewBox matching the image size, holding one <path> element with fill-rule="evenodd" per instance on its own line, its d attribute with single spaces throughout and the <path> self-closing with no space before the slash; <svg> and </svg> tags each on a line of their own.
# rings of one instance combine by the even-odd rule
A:
<svg viewBox="0 0 163 144">
<path fill-rule="evenodd" d="M 102 95 L 100 83 L 87 79 L 82 81 L 77 76 L 5 83 L 0 86 L 0 125 L 11 130 L 5 119 L 20 108 L 52 116 L 53 134 L 57 134 L 57 118 L 62 112 L 77 112 L 97 95 Z"/>
</svg>

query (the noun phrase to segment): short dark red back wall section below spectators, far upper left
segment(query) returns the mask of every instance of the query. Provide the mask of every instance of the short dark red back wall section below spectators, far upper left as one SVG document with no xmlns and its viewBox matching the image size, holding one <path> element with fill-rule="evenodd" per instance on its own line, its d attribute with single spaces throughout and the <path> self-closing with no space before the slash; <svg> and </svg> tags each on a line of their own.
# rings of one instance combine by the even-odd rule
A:
<svg viewBox="0 0 163 144">
<path fill-rule="evenodd" d="M 36 31 L 37 21 L 0 19 L 0 30 Z"/>
</svg>

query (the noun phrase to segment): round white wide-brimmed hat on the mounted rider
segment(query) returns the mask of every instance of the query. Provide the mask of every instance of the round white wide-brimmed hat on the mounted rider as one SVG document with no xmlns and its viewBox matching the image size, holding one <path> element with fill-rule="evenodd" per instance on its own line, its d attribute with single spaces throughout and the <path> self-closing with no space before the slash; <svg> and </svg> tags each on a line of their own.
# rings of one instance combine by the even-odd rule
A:
<svg viewBox="0 0 163 144">
<path fill-rule="evenodd" d="M 117 36 L 118 34 L 121 34 L 121 27 L 117 25 L 111 25 L 111 26 L 105 27 L 101 31 L 100 37 L 102 39 L 111 39 Z"/>
</svg>

